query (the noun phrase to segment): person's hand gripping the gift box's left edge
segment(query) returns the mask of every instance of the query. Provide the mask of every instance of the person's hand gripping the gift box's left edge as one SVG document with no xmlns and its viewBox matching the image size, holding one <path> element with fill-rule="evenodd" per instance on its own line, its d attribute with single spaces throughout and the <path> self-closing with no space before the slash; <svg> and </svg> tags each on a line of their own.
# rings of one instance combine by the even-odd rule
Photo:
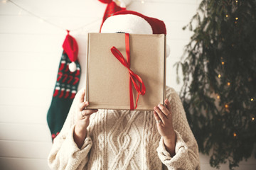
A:
<svg viewBox="0 0 256 170">
<path fill-rule="evenodd" d="M 90 115 L 97 112 L 97 109 L 85 109 L 89 105 L 87 101 L 84 101 L 85 98 L 85 89 L 78 93 L 78 106 L 75 108 L 76 114 L 78 115 L 78 121 L 75 124 L 74 130 L 74 141 L 79 148 L 82 147 L 83 142 L 85 141 L 87 130 L 86 128 L 90 124 Z"/>
</svg>

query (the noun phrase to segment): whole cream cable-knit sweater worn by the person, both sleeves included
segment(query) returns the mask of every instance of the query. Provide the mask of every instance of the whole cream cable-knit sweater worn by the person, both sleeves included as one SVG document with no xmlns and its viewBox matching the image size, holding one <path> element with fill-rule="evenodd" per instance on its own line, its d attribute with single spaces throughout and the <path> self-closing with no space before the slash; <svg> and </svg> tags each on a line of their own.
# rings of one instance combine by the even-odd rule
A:
<svg viewBox="0 0 256 170">
<path fill-rule="evenodd" d="M 87 137 L 79 149 L 73 140 L 75 98 L 63 129 L 48 157 L 51 169 L 200 169 L 198 145 L 178 94 L 166 87 L 176 132 L 171 157 L 156 128 L 152 111 L 99 110 L 90 117 Z"/>
</svg>

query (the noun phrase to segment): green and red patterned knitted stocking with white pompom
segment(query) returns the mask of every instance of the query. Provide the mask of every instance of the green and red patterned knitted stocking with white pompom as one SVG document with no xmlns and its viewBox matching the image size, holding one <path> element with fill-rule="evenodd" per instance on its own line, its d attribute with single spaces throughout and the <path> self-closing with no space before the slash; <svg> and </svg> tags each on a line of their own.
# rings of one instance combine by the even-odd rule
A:
<svg viewBox="0 0 256 170">
<path fill-rule="evenodd" d="M 53 98 L 47 113 L 52 140 L 63 127 L 80 80 L 80 64 L 77 60 L 78 45 L 69 32 L 63 43 L 63 49 Z"/>
</svg>

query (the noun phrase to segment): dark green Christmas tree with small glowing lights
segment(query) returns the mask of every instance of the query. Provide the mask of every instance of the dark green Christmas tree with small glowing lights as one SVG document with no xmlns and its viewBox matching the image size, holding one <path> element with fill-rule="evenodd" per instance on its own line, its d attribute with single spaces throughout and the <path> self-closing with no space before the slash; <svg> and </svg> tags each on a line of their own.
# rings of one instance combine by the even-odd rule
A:
<svg viewBox="0 0 256 170">
<path fill-rule="evenodd" d="M 233 169 L 256 143 L 256 1 L 202 0 L 186 28 L 176 67 L 188 122 L 210 165 Z"/>
</svg>

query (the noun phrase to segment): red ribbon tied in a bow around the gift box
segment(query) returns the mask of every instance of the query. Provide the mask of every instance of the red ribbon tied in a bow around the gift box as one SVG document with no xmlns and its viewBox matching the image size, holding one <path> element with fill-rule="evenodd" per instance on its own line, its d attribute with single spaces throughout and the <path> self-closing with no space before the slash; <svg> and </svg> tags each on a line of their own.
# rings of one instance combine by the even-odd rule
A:
<svg viewBox="0 0 256 170">
<path fill-rule="evenodd" d="M 130 96 L 130 109 L 133 111 L 137 108 L 138 100 L 139 100 L 139 94 L 144 95 L 146 93 L 146 87 L 144 85 L 144 82 L 142 81 L 142 78 L 140 78 L 137 74 L 132 72 L 130 69 L 130 50 L 129 50 L 129 34 L 125 33 L 125 50 L 127 55 L 127 61 L 124 59 L 124 56 L 122 55 L 119 50 L 117 50 L 116 47 L 111 48 L 111 52 L 114 55 L 114 57 L 121 62 L 124 67 L 127 67 L 129 71 L 129 96 Z M 136 105 L 134 108 L 134 102 L 133 102 L 133 93 L 132 93 L 132 84 L 134 85 L 134 88 L 138 92 L 138 96 L 136 99 Z"/>
</svg>

